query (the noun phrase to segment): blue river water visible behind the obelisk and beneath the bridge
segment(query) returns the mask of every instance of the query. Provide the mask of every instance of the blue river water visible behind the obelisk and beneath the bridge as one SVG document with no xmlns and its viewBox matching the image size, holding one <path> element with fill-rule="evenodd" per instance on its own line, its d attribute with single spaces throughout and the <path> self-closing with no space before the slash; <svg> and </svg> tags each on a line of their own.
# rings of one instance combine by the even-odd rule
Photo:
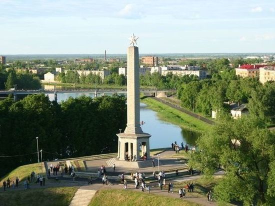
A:
<svg viewBox="0 0 275 206">
<path fill-rule="evenodd" d="M 54 100 L 54 94 L 47 94 L 50 100 Z M 93 93 L 57 93 L 57 101 L 67 99 L 69 96 L 75 98 L 80 95 L 87 95 L 94 97 Z M 100 95 L 98 93 L 98 95 Z M 169 123 L 167 121 L 160 120 L 157 116 L 157 112 L 149 109 L 145 103 L 140 103 L 140 121 L 145 123 L 141 125 L 143 132 L 151 134 L 150 148 L 162 148 L 169 147 L 171 143 L 176 141 L 179 145 L 181 142 L 189 146 L 195 144 L 195 140 L 198 138 L 199 133 L 189 131 L 179 126 Z M 123 129 L 122 129 L 123 131 Z"/>
</svg>

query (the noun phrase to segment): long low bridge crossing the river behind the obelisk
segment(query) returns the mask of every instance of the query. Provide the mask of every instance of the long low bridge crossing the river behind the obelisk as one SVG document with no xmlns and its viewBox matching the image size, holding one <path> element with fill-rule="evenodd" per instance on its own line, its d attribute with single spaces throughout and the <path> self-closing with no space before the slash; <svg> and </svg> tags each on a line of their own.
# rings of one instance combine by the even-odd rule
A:
<svg viewBox="0 0 275 206">
<path fill-rule="evenodd" d="M 146 93 L 147 95 L 156 96 L 156 97 L 167 97 L 167 93 L 176 92 L 175 89 L 140 89 L 140 92 Z M 127 89 L 9 89 L 9 90 L 0 90 L 0 95 L 12 94 L 13 99 L 16 101 L 18 95 L 28 95 L 28 94 L 37 94 L 37 93 L 54 93 L 55 98 L 57 99 L 57 93 L 93 93 L 96 97 L 98 93 L 101 94 L 126 94 Z M 55 99 L 55 100 L 56 100 Z"/>
</svg>

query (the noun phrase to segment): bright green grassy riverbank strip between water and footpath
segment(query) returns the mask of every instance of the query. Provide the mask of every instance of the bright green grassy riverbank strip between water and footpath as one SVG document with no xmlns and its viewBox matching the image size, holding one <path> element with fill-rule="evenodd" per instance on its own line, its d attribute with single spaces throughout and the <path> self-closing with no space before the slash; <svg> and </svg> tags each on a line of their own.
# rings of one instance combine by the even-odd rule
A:
<svg viewBox="0 0 275 206">
<path fill-rule="evenodd" d="M 147 104 L 148 107 L 157 112 L 158 117 L 161 120 L 165 120 L 176 124 L 182 128 L 204 133 L 211 128 L 210 124 L 207 124 L 197 118 L 194 118 L 184 112 L 181 112 L 175 108 L 165 105 L 153 98 L 145 97 L 141 95 L 140 101 Z"/>
</svg>

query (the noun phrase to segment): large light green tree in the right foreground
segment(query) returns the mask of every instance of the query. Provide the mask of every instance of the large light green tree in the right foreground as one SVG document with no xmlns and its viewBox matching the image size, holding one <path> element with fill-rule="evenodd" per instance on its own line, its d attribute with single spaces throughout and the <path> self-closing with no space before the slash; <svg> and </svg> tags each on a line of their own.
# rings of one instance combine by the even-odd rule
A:
<svg viewBox="0 0 275 206">
<path fill-rule="evenodd" d="M 271 205 L 275 201 L 275 133 L 257 116 L 220 119 L 199 138 L 189 163 L 206 175 L 224 170 L 214 188 L 219 202 Z"/>
</svg>

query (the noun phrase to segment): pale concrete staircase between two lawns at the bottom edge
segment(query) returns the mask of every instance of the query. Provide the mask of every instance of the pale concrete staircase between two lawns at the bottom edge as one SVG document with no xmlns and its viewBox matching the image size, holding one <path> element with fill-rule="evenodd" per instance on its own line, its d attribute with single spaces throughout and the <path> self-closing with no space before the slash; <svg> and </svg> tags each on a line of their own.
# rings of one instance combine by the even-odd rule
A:
<svg viewBox="0 0 275 206">
<path fill-rule="evenodd" d="M 95 192 L 96 190 L 77 189 L 69 206 L 87 206 Z"/>
</svg>

